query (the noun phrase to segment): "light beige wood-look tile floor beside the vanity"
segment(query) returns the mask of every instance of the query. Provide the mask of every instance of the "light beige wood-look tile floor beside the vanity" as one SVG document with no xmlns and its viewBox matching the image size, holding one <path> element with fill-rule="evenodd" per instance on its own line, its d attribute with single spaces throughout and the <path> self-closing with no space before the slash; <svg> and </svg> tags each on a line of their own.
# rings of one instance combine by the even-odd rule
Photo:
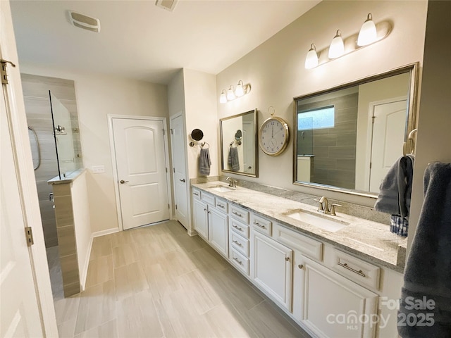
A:
<svg viewBox="0 0 451 338">
<path fill-rule="evenodd" d="M 94 238 L 85 292 L 55 309 L 60 337 L 309 337 L 175 221 Z"/>
</svg>

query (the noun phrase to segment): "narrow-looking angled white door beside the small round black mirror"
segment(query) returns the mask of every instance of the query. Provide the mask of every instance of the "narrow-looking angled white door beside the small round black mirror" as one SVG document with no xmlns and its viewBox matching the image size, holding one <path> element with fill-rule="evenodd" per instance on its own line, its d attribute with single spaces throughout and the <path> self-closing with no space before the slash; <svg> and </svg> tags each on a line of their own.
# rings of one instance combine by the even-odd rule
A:
<svg viewBox="0 0 451 338">
<path fill-rule="evenodd" d="M 171 149 L 174 174 L 174 201 L 175 218 L 185 228 L 190 226 L 190 214 L 188 212 L 189 184 L 186 175 L 185 161 L 185 126 L 183 115 L 171 118 Z"/>
</svg>

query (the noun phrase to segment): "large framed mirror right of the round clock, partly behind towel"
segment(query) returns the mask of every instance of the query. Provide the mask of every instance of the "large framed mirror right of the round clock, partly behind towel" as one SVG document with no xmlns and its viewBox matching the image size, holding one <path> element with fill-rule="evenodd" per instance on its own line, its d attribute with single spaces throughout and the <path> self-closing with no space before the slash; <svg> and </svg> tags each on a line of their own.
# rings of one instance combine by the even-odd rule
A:
<svg viewBox="0 0 451 338">
<path fill-rule="evenodd" d="M 295 97 L 293 184 L 376 198 L 415 126 L 417 68 Z"/>
</svg>

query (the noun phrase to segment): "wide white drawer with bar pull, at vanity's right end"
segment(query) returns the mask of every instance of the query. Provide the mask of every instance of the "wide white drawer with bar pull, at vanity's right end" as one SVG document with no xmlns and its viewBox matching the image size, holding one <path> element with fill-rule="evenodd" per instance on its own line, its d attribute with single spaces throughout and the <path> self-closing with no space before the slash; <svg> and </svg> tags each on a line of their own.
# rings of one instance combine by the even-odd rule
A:
<svg viewBox="0 0 451 338">
<path fill-rule="evenodd" d="M 326 246 L 324 263 L 336 273 L 371 289 L 379 289 L 381 268 L 348 253 Z"/>
</svg>

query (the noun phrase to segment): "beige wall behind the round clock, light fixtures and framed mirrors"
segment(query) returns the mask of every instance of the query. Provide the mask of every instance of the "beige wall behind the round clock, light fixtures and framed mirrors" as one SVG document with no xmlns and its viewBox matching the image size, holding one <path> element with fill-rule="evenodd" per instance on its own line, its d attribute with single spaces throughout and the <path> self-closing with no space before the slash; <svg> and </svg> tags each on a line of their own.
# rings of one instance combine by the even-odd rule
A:
<svg viewBox="0 0 451 338">
<path fill-rule="evenodd" d="M 252 91 L 228 104 L 218 103 L 218 118 L 259 108 L 259 125 L 269 117 L 268 106 L 293 129 L 292 99 L 362 77 L 422 61 L 426 1 L 323 1 L 277 35 L 217 75 L 216 96 L 238 80 L 252 84 Z M 312 42 L 317 50 L 330 44 L 337 29 L 343 37 L 359 32 L 371 12 L 376 23 L 393 22 L 393 31 L 381 42 L 306 70 L 304 60 Z M 292 184 L 292 142 L 278 157 L 259 150 L 259 177 L 247 178 L 285 189 L 327 195 L 343 201 L 373 206 L 374 199 Z M 278 173 L 278 175 L 274 175 Z M 240 178 L 239 176 L 235 176 Z"/>
</svg>

